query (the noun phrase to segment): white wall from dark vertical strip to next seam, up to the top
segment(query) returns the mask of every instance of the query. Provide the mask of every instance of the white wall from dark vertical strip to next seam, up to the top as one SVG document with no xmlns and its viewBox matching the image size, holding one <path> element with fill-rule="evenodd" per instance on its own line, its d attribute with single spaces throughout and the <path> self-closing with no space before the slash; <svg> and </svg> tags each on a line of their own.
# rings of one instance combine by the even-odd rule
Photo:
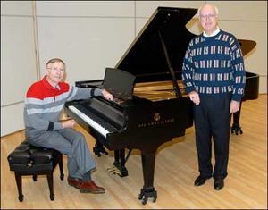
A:
<svg viewBox="0 0 268 210">
<path fill-rule="evenodd" d="M 37 2 L 41 75 L 44 63 L 61 57 L 67 81 L 104 77 L 135 38 L 134 2 Z"/>
</svg>

